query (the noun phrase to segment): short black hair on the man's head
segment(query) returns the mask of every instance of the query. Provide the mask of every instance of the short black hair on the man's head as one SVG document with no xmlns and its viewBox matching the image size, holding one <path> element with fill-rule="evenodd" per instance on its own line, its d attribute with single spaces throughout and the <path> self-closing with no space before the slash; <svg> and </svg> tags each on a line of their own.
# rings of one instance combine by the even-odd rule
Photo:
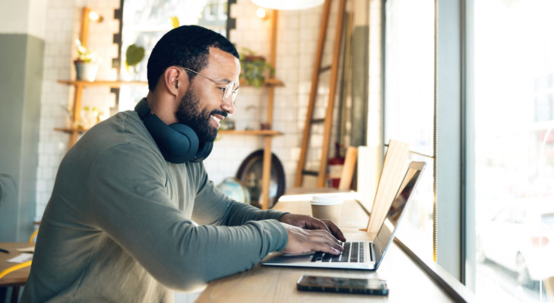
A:
<svg viewBox="0 0 554 303">
<path fill-rule="evenodd" d="M 148 58 L 148 89 L 154 91 L 159 77 L 170 66 L 183 66 L 202 71 L 208 65 L 210 47 L 219 48 L 235 57 L 237 49 L 226 37 L 202 26 L 179 26 L 163 35 Z M 195 73 L 186 71 L 192 80 Z"/>
</svg>

